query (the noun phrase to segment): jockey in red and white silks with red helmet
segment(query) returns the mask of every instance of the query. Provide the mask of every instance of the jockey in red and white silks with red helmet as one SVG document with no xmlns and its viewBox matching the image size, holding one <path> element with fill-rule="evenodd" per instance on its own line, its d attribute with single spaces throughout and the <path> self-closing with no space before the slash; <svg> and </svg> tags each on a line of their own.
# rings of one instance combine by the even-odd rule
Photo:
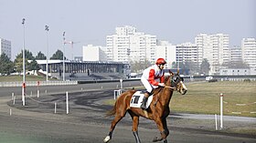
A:
<svg viewBox="0 0 256 143">
<path fill-rule="evenodd" d="M 165 64 L 166 61 L 164 58 L 158 58 L 154 66 L 149 66 L 144 69 L 143 76 L 141 77 L 141 81 L 146 88 L 141 106 L 143 109 L 146 109 L 147 98 L 151 96 L 153 89 L 159 86 L 165 87 L 165 72 L 163 70 Z M 160 78 L 160 82 L 155 81 L 155 79 L 158 78 Z"/>
</svg>

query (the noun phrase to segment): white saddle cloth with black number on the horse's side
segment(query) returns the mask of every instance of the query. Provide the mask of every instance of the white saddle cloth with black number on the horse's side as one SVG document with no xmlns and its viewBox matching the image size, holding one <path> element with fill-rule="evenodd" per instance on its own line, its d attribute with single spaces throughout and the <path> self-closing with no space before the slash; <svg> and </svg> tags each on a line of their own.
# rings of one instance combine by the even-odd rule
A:
<svg viewBox="0 0 256 143">
<path fill-rule="evenodd" d="M 142 91 L 136 91 L 130 101 L 130 107 L 141 107 L 144 99 L 144 93 Z M 153 95 L 148 97 L 146 102 L 146 108 L 150 106 L 153 100 Z"/>
</svg>

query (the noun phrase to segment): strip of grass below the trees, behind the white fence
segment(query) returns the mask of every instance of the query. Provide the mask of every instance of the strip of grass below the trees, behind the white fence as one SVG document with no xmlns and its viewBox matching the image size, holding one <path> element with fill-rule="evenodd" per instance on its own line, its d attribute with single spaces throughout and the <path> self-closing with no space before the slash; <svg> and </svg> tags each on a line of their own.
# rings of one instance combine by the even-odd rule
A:
<svg viewBox="0 0 256 143">
<path fill-rule="evenodd" d="M 47 77 L 26 75 L 26 81 L 44 81 Z M 48 78 L 48 80 L 57 80 Z M 13 82 L 13 81 L 23 81 L 23 76 L 0 76 L 0 82 Z"/>
</svg>

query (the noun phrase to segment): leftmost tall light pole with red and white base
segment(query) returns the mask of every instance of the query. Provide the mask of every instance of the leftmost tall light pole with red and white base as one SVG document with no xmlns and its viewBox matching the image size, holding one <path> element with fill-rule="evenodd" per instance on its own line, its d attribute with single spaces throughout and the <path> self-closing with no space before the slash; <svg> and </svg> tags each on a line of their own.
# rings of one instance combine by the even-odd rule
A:
<svg viewBox="0 0 256 143">
<path fill-rule="evenodd" d="M 22 25 L 23 25 L 23 83 L 22 83 L 22 105 L 25 106 L 25 88 L 26 88 L 26 82 L 25 82 L 25 75 L 26 75 L 26 68 L 25 68 L 25 18 L 22 19 Z"/>
</svg>

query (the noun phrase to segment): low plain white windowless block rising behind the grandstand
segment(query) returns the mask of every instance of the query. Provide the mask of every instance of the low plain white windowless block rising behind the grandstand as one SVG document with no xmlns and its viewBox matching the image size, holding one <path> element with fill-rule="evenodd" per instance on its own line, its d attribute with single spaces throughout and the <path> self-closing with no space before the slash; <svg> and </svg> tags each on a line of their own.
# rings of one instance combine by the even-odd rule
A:
<svg viewBox="0 0 256 143">
<path fill-rule="evenodd" d="M 106 61 L 104 47 L 102 46 L 82 46 L 82 61 Z"/>
</svg>

